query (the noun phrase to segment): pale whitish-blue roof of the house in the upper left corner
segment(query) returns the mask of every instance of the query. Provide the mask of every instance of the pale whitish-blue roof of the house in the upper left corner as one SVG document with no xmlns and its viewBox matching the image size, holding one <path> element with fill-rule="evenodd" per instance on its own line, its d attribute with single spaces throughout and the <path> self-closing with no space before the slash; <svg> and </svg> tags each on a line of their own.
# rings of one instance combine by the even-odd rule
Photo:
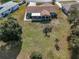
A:
<svg viewBox="0 0 79 59">
<path fill-rule="evenodd" d="M 5 12 L 6 10 L 10 9 L 11 7 L 17 5 L 17 4 L 18 3 L 10 1 L 10 2 L 7 2 L 7 3 L 3 4 L 3 5 L 0 5 L 0 7 L 3 7 L 3 8 L 0 9 L 0 14 Z"/>
</svg>

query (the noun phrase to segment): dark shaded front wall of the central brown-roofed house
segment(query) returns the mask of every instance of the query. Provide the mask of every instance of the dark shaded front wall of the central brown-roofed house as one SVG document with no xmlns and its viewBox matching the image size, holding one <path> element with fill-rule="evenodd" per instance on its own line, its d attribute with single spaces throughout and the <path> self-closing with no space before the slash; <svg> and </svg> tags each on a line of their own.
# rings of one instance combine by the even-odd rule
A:
<svg viewBox="0 0 79 59">
<path fill-rule="evenodd" d="M 57 18 L 57 14 L 55 12 L 51 12 L 50 15 L 48 16 L 42 16 L 42 15 L 35 15 L 32 16 L 32 13 L 27 13 L 28 15 L 26 15 L 26 19 L 34 19 L 34 20 L 43 20 L 43 19 L 50 19 L 50 18 Z"/>
</svg>

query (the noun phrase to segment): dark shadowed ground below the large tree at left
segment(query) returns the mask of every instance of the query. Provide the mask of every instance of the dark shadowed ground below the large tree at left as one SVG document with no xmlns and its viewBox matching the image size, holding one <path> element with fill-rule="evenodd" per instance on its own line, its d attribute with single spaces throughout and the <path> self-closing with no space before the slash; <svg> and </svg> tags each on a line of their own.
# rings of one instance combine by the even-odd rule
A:
<svg viewBox="0 0 79 59">
<path fill-rule="evenodd" d="M 22 41 L 10 41 L 0 47 L 0 59 L 17 59 L 21 51 Z"/>
</svg>

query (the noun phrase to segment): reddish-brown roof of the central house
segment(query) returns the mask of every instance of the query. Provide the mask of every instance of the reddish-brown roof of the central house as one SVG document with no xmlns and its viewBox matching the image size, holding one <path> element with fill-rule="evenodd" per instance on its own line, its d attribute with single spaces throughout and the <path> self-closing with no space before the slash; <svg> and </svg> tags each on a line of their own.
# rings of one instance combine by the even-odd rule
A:
<svg viewBox="0 0 79 59">
<path fill-rule="evenodd" d="M 41 11 L 43 11 L 43 10 L 53 12 L 57 9 L 59 9 L 59 7 L 56 5 L 52 5 L 52 6 L 48 6 L 48 5 L 45 5 L 45 6 L 28 6 L 26 11 L 27 11 L 27 13 L 41 13 Z"/>
</svg>

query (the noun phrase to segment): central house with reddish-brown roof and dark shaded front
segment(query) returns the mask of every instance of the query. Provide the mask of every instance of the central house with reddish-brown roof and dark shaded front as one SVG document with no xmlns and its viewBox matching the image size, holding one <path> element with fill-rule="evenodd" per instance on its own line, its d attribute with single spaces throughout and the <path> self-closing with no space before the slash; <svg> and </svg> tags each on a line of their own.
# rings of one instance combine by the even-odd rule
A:
<svg viewBox="0 0 79 59">
<path fill-rule="evenodd" d="M 28 5 L 26 8 L 25 21 L 43 21 L 57 18 L 56 10 L 59 10 L 57 5 L 50 3 L 44 3 L 42 5 L 36 5 L 32 2 L 32 5 Z"/>
</svg>

